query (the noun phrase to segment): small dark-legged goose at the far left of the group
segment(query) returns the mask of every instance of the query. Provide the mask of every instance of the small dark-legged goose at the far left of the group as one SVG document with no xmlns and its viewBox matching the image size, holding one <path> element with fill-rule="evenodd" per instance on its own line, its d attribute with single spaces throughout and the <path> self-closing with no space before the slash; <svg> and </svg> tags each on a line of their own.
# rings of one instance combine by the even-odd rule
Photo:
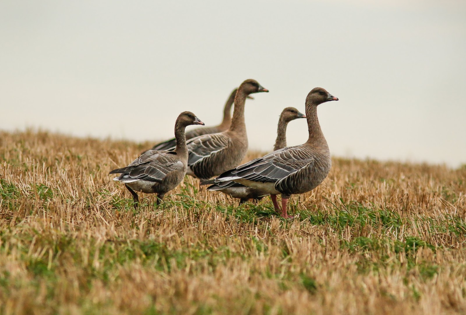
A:
<svg viewBox="0 0 466 315">
<path fill-rule="evenodd" d="M 110 174 L 120 174 L 113 180 L 123 182 L 133 195 L 137 208 L 139 197 L 136 191 L 157 193 L 157 205 L 165 194 L 183 180 L 188 162 L 185 128 L 189 125 L 204 125 L 192 112 L 182 112 L 175 123 L 176 148 L 173 151 L 147 150 L 125 168 L 117 168 Z"/>
</svg>

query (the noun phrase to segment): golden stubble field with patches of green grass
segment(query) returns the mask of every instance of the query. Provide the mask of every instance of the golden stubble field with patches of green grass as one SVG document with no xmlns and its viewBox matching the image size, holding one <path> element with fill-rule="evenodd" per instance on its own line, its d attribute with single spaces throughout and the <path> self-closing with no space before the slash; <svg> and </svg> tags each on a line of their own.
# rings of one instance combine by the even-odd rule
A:
<svg viewBox="0 0 466 315">
<path fill-rule="evenodd" d="M 151 144 L 0 132 L 1 314 L 466 312 L 466 167 L 334 158 L 293 220 L 188 176 L 134 210 L 108 172 Z"/>
</svg>

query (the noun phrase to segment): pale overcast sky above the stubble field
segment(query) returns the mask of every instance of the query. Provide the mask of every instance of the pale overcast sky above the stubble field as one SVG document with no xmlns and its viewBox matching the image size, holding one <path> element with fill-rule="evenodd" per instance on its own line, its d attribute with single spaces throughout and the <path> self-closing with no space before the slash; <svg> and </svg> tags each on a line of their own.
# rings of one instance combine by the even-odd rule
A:
<svg viewBox="0 0 466 315">
<path fill-rule="evenodd" d="M 163 140 L 185 110 L 217 125 L 254 78 L 250 148 L 320 86 L 334 156 L 466 163 L 466 1 L 2 0 L 0 39 L 3 130 Z"/>
</svg>

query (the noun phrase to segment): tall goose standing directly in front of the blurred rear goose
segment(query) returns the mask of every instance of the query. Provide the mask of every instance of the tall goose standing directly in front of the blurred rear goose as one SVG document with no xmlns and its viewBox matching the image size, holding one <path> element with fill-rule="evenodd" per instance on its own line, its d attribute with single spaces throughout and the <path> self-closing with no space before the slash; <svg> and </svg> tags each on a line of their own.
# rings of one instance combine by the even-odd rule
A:
<svg viewBox="0 0 466 315">
<path fill-rule="evenodd" d="M 241 83 L 234 98 L 230 127 L 221 133 L 205 134 L 186 142 L 188 170 L 186 174 L 205 181 L 238 166 L 247 153 L 247 133 L 244 105 L 249 94 L 268 92 L 254 79 Z"/>
</svg>

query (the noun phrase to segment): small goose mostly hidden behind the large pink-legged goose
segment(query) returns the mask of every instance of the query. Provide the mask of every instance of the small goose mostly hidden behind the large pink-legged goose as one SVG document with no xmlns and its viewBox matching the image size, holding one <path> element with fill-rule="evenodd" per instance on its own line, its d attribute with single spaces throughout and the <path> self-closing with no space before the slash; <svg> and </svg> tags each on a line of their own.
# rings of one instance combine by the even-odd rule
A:
<svg viewBox="0 0 466 315">
<path fill-rule="evenodd" d="M 287 107 L 281 112 L 280 118 L 278 119 L 277 139 L 275 140 L 274 151 L 287 146 L 286 133 L 288 123 L 298 118 L 306 118 L 306 115 L 299 112 L 295 107 Z M 222 186 L 215 184 L 215 180 L 202 182 L 202 185 L 207 184 L 213 184 L 212 186 L 207 187 L 207 190 L 219 190 L 233 198 L 240 198 L 240 204 L 245 203 L 248 199 L 260 200 L 264 195 L 267 195 L 267 192 L 265 191 L 247 187 L 233 181 L 228 184 L 226 182 L 222 182 Z"/>
</svg>

